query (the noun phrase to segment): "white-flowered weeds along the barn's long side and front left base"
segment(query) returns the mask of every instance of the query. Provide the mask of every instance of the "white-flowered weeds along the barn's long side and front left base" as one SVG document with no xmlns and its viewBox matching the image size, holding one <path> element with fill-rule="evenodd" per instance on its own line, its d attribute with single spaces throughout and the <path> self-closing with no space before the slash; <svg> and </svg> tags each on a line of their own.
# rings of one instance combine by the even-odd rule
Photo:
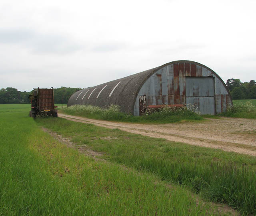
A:
<svg viewBox="0 0 256 216">
<path fill-rule="evenodd" d="M 172 122 L 191 122 L 202 120 L 202 116 L 186 107 L 182 108 L 161 108 L 158 112 L 146 112 L 142 116 L 133 116 L 120 112 L 120 107 L 110 105 L 103 109 L 91 105 L 74 105 L 63 108 L 61 112 L 70 115 L 83 116 L 99 120 L 120 121 L 120 122 L 138 122 L 138 123 L 172 123 Z"/>
</svg>

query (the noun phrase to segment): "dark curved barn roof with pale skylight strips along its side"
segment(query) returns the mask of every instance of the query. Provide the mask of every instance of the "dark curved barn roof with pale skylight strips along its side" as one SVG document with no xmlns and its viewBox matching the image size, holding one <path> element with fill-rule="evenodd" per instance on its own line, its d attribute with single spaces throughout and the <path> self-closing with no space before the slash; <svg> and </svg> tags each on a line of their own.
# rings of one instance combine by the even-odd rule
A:
<svg viewBox="0 0 256 216">
<path fill-rule="evenodd" d="M 222 79 L 214 71 L 212 71 L 212 69 L 206 67 L 205 65 L 186 60 L 172 61 L 160 67 L 155 67 L 147 71 L 130 75 L 128 77 L 106 82 L 98 86 L 85 88 L 75 92 L 69 98 L 68 106 L 74 104 L 90 104 L 93 106 L 108 107 L 110 104 L 118 104 L 122 108 L 122 112 L 133 114 L 136 97 L 144 82 L 146 82 L 146 80 L 159 69 L 175 63 L 192 63 L 204 67 L 211 71 L 215 77 L 218 77 L 220 81 L 222 81 Z M 229 92 L 225 83 L 223 81 L 222 83 L 227 89 L 227 92 Z"/>
</svg>

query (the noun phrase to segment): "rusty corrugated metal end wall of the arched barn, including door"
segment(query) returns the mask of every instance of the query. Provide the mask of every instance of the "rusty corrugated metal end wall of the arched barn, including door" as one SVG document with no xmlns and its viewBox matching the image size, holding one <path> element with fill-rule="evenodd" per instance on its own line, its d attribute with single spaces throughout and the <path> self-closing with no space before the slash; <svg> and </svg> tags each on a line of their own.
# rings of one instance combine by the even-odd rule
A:
<svg viewBox="0 0 256 216">
<path fill-rule="evenodd" d="M 161 80 L 152 78 L 160 77 L 160 75 L 162 75 Z M 190 77 L 190 79 L 186 79 L 186 77 Z M 151 84 L 152 81 L 154 81 L 154 85 Z M 194 81 L 196 81 L 197 87 L 195 87 Z M 187 84 L 192 88 L 187 90 Z M 160 86 L 162 86 L 162 94 Z M 156 71 L 140 88 L 138 95 L 144 94 L 146 95 L 146 106 L 191 103 L 198 107 L 201 114 L 220 113 L 226 110 L 227 104 L 231 104 L 223 81 L 206 67 L 188 62 L 166 65 Z M 190 96 L 191 98 L 189 98 Z M 221 100 L 221 97 L 224 99 Z M 135 101 L 134 115 L 138 115 L 138 98 Z"/>
</svg>

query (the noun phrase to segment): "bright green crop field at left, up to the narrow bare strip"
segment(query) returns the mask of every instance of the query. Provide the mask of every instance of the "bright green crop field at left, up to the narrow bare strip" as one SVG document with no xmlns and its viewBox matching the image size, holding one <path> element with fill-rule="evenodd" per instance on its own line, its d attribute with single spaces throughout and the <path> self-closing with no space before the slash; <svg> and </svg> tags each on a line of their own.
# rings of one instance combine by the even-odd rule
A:
<svg viewBox="0 0 256 216">
<path fill-rule="evenodd" d="M 0 105 L 0 215 L 217 214 L 182 187 L 168 189 L 148 173 L 96 162 L 66 147 L 38 124 L 67 133 L 68 121 L 35 122 L 28 111 L 20 104 Z"/>
</svg>

